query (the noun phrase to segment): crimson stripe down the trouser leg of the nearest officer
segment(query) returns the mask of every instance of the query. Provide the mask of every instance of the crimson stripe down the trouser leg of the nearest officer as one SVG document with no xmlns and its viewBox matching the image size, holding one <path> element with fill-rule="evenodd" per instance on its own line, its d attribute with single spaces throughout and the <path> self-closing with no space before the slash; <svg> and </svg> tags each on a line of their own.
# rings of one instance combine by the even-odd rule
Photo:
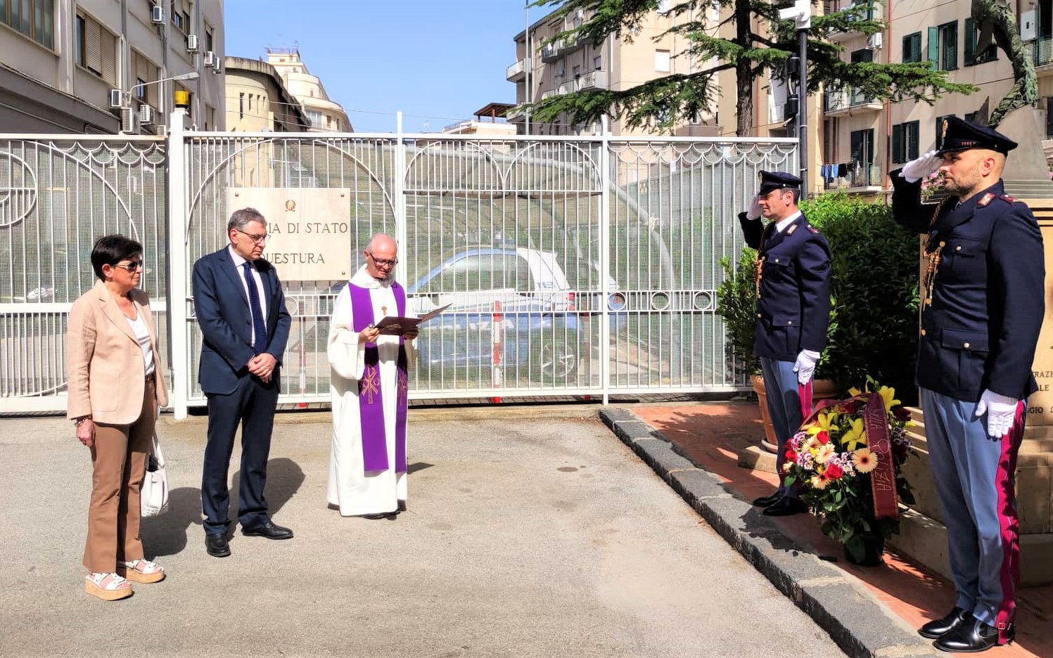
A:
<svg viewBox="0 0 1053 658">
<path fill-rule="evenodd" d="M 1020 546 L 1018 521 L 1016 517 L 1016 453 L 1024 438 L 1024 423 L 1028 408 L 1025 401 L 1016 405 L 1013 426 L 1001 437 L 1001 456 L 998 459 L 998 472 L 995 483 L 998 490 L 998 522 L 1001 525 L 1001 570 L 998 574 L 1001 581 L 1001 604 L 995 617 L 995 627 L 998 629 L 998 643 L 1009 641 L 1009 631 L 1016 617 L 1016 585 L 1020 580 Z"/>
</svg>

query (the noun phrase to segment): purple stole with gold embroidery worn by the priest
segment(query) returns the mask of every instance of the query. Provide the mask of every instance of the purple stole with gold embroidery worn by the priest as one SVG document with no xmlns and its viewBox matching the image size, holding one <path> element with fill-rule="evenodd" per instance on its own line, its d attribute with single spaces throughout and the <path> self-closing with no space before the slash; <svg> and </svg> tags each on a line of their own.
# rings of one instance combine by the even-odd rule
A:
<svg viewBox="0 0 1053 658">
<path fill-rule="evenodd" d="M 373 300 L 370 288 L 347 284 L 351 294 L 352 328 L 356 333 L 377 322 L 373 317 Z M 395 305 L 399 316 L 405 315 L 405 291 L 398 283 L 392 283 Z M 382 318 L 381 318 L 382 319 Z M 396 363 L 397 401 L 395 404 L 395 472 L 405 473 L 405 413 L 410 379 L 406 375 L 405 346 L 399 337 L 398 361 Z M 386 471 L 388 437 L 384 428 L 383 392 L 380 390 L 380 351 L 376 343 L 365 343 L 365 368 L 358 382 L 358 418 L 362 434 L 362 462 L 365 471 Z"/>
</svg>

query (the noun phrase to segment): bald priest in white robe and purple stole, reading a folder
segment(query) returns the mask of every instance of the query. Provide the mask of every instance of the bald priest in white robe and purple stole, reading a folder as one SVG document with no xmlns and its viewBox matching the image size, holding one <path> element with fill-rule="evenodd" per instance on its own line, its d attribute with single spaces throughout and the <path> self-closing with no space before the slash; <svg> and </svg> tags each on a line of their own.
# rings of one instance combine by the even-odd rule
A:
<svg viewBox="0 0 1053 658">
<path fill-rule="evenodd" d="M 392 518 L 405 510 L 406 394 L 413 339 L 380 334 L 386 316 L 405 316 L 405 291 L 395 282 L 398 247 L 378 234 L 365 265 L 337 296 L 330 322 L 333 446 L 326 498 L 341 516 Z"/>
</svg>

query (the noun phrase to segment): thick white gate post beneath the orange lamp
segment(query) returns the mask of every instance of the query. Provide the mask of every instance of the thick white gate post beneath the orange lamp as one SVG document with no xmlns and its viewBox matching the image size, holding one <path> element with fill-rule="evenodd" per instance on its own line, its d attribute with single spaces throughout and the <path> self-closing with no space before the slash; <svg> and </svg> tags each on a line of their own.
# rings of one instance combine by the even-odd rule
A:
<svg viewBox="0 0 1053 658">
<path fill-rule="evenodd" d="M 177 419 L 186 418 L 191 364 L 187 336 L 186 281 L 186 146 L 183 119 L 186 113 L 175 109 L 168 125 L 168 350 L 172 364 L 172 397 L 168 400 Z"/>
</svg>

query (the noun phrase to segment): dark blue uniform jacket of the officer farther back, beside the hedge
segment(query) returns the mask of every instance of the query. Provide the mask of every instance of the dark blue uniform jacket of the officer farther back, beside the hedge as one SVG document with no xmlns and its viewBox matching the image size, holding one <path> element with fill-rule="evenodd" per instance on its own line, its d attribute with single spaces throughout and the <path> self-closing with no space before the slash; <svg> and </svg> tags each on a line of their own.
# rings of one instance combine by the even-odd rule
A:
<svg viewBox="0 0 1053 658">
<path fill-rule="evenodd" d="M 796 361 L 801 350 L 822 352 L 830 323 L 830 246 L 803 215 L 786 231 L 739 213 L 746 243 L 758 251 L 757 324 L 753 353 Z"/>
</svg>

